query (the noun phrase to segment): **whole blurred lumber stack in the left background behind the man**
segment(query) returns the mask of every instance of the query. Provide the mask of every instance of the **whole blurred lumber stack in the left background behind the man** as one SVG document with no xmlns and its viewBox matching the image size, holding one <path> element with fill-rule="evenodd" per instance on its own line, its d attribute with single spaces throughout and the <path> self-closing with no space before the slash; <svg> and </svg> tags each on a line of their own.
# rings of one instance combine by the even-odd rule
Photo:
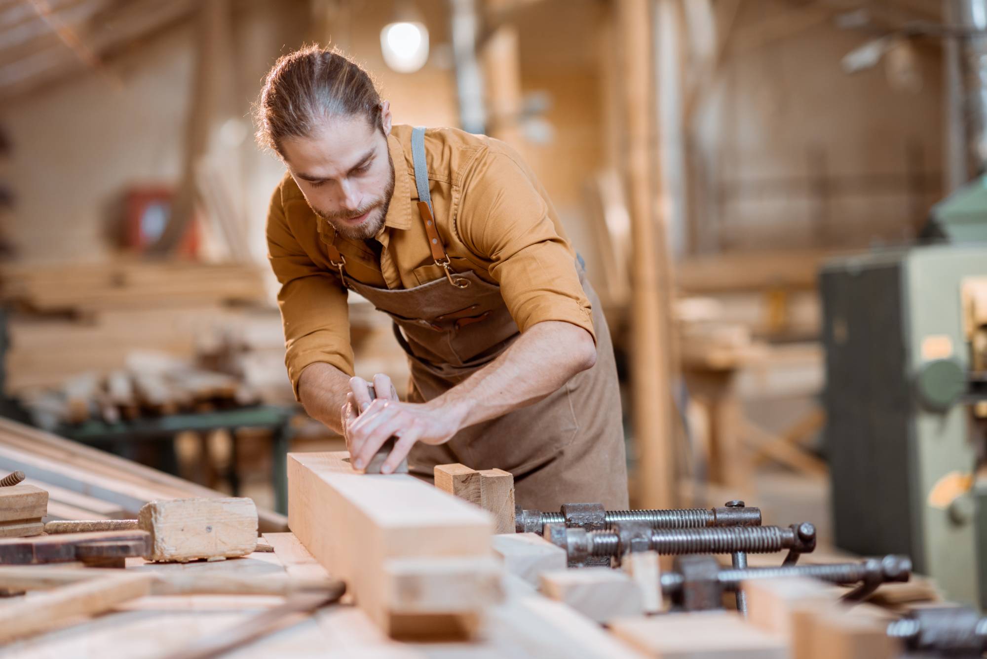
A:
<svg viewBox="0 0 987 659">
<path fill-rule="evenodd" d="M 107 376 L 135 351 L 214 352 L 233 328 L 276 319 L 262 271 L 245 265 L 6 265 L 0 297 L 16 310 L 7 319 L 8 396 L 87 373 Z"/>
</svg>

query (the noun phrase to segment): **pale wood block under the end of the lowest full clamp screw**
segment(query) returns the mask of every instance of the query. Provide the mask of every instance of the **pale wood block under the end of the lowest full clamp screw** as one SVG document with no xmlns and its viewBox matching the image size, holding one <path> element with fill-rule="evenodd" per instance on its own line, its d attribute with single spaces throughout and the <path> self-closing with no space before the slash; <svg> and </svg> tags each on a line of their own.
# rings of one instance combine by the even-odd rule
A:
<svg viewBox="0 0 987 659">
<path fill-rule="evenodd" d="M 747 594 L 747 621 L 791 640 L 797 617 L 812 616 L 835 606 L 838 591 L 815 579 L 751 579 Z"/>
</svg>

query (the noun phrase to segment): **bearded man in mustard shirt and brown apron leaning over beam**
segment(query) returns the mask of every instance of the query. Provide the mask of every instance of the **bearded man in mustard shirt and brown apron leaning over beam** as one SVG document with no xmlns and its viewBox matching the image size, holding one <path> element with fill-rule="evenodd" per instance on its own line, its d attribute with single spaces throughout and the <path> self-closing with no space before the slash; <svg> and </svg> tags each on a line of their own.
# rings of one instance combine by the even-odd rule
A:
<svg viewBox="0 0 987 659">
<path fill-rule="evenodd" d="M 516 152 L 393 125 L 369 76 L 311 46 L 266 77 L 258 137 L 287 167 L 267 244 L 286 365 L 308 413 L 365 467 L 463 463 L 513 474 L 526 508 L 627 506 L 613 347 L 548 195 Z M 353 374 L 347 290 L 394 321 L 407 402 Z M 590 304 L 592 301 L 592 304 Z M 341 411 L 342 410 L 342 411 Z"/>
</svg>

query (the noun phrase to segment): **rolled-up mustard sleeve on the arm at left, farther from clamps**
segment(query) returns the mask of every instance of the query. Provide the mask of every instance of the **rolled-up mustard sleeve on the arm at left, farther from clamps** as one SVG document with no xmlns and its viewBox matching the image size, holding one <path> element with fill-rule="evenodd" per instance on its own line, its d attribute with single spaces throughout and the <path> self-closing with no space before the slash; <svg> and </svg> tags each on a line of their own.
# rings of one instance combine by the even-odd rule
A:
<svg viewBox="0 0 987 659">
<path fill-rule="evenodd" d="M 284 327 L 284 363 L 300 400 L 298 380 L 310 364 L 325 362 L 353 374 L 346 289 L 338 274 L 317 266 L 299 245 L 285 219 L 279 188 L 270 201 L 266 233 L 267 258 L 281 284 L 277 306 Z"/>
</svg>

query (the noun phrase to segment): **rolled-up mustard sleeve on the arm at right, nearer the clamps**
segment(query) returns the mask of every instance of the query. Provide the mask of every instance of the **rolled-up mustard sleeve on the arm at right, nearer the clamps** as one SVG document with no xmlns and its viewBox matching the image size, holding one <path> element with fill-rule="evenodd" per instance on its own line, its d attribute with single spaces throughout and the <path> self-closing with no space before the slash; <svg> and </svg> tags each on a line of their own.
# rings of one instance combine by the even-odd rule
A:
<svg viewBox="0 0 987 659">
<path fill-rule="evenodd" d="M 491 276 L 518 329 L 564 321 L 596 340 L 575 255 L 521 165 L 487 153 L 465 179 L 457 230 L 470 250 L 492 261 Z"/>
</svg>

